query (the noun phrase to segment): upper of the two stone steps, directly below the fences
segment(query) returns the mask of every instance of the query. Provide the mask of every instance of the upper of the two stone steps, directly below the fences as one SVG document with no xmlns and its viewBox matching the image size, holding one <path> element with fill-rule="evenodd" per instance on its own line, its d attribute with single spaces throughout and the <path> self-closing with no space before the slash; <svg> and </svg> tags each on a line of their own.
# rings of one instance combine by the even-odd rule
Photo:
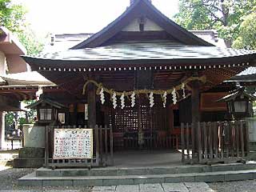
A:
<svg viewBox="0 0 256 192">
<path fill-rule="evenodd" d="M 77 176 L 122 176 L 148 174 L 190 174 L 230 170 L 254 170 L 256 163 L 221 164 L 213 166 L 163 166 L 142 168 L 93 168 L 88 169 L 57 169 L 40 168 L 35 171 L 37 177 L 77 177 Z"/>
</svg>

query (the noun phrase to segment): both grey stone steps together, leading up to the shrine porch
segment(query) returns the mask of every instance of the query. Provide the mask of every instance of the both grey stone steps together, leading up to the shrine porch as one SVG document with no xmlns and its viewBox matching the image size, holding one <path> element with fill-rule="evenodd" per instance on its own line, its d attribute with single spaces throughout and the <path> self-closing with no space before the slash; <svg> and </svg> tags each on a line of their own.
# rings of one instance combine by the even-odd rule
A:
<svg viewBox="0 0 256 192">
<path fill-rule="evenodd" d="M 212 166 L 56 169 L 40 168 L 18 179 L 22 186 L 117 186 L 166 182 L 224 182 L 256 178 L 256 163 Z"/>
</svg>

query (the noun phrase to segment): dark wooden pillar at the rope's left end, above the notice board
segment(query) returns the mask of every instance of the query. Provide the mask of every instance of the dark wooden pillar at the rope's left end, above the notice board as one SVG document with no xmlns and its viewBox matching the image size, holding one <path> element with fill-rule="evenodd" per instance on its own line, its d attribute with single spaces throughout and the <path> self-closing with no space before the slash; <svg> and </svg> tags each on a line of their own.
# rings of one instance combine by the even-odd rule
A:
<svg viewBox="0 0 256 192">
<path fill-rule="evenodd" d="M 88 102 L 88 126 L 94 128 L 96 126 L 96 89 L 95 86 L 88 86 L 87 94 Z"/>
</svg>

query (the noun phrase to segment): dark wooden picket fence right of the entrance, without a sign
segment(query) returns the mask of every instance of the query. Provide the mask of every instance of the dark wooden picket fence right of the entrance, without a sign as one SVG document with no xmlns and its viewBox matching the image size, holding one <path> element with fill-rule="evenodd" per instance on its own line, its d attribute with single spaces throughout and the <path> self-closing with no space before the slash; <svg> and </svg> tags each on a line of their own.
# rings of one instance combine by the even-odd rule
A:
<svg viewBox="0 0 256 192">
<path fill-rule="evenodd" d="M 249 154 L 246 121 L 182 123 L 182 162 L 236 162 Z"/>
</svg>

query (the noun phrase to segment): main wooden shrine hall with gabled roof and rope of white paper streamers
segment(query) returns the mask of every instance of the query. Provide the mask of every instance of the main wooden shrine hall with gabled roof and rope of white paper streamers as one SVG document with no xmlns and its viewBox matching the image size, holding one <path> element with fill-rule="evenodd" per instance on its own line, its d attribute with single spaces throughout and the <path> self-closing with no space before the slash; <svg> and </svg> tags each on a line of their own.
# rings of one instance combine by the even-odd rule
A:
<svg viewBox="0 0 256 192">
<path fill-rule="evenodd" d="M 199 129 L 191 133 L 191 123 L 201 127 L 200 122 L 226 120 L 225 103 L 216 101 L 230 87 L 219 85 L 254 66 L 256 52 L 214 46 L 166 18 L 150 1 L 137 0 L 114 22 L 69 50 L 22 58 L 80 101 L 66 97 L 62 104 L 88 106 L 88 118 L 86 112 L 76 113 L 63 126 L 111 126 L 114 150 L 180 149 L 188 139 L 185 128 L 185 133 L 199 135 Z M 207 125 L 202 129 L 212 126 Z M 193 139 L 187 146 L 191 142 L 198 146 L 194 152 L 206 151 L 206 145 Z M 184 155 L 190 158 L 188 152 Z"/>
</svg>

